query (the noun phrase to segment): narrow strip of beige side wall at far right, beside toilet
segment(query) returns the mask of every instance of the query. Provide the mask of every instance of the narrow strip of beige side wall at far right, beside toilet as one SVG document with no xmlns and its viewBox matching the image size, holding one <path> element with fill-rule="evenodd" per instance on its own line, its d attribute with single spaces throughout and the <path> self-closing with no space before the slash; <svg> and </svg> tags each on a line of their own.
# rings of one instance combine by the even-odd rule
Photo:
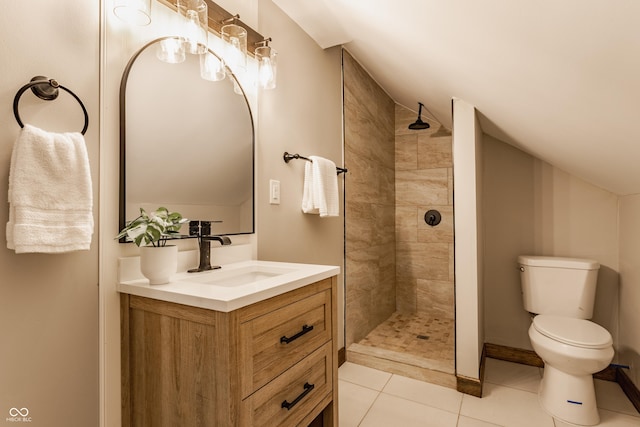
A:
<svg viewBox="0 0 640 427">
<path fill-rule="evenodd" d="M 618 361 L 640 388 L 640 195 L 620 198 L 620 334 Z"/>
</svg>

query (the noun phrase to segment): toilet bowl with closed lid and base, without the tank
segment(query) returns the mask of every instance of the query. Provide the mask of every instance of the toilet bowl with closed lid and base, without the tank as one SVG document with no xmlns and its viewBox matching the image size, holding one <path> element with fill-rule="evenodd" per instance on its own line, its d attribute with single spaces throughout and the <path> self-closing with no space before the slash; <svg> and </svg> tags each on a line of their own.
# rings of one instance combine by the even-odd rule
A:
<svg viewBox="0 0 640 427">
<path fill-rule="evenodd" d="M 592 375 L 613 359 L 611 334 L 585 319 L 541 314 L 533 318 L 529 338 L 545 363 L 540 405 L 565 422 L 598 424 Z"/>
</svg>

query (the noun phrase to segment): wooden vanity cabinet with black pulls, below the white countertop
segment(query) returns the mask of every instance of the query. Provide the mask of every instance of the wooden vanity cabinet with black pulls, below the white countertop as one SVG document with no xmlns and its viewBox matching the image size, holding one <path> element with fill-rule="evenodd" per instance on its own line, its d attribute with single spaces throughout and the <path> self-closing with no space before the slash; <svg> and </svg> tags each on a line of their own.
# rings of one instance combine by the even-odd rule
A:
<svg viewBox="0 0 640 427">
<path fill-rule="evenodd" d="M 123 427 L 337 426 L 335 277 L 229 313 L 120 298 Z"/>
</svg>

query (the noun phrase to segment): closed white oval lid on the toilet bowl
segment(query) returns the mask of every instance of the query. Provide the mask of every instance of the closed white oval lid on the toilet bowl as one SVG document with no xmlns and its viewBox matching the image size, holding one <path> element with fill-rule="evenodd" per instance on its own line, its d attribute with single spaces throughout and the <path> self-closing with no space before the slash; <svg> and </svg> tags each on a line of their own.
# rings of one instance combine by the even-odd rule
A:
<svg viewBox="0 0 640 427">
<path fill-rule="evenodd" d="M 540 314 L 533 318 L 538 332 L 556 341 L 584 348 L 606 348 L 613 344 L 605 328 L 584 319 Z"/>
</svg>

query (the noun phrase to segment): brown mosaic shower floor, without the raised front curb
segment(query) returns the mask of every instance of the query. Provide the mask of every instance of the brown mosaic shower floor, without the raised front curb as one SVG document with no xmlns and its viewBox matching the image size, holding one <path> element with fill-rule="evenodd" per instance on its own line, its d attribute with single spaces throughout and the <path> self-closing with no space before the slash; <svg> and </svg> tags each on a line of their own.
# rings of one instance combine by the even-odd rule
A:
<svg viewBox="0 0 640 427">
<path fill-rule="evenodd" d="M 396 312 L 358 344 L 443 362 L 453 367 L 454 321 L 424 313 Z"/>
</svg>

